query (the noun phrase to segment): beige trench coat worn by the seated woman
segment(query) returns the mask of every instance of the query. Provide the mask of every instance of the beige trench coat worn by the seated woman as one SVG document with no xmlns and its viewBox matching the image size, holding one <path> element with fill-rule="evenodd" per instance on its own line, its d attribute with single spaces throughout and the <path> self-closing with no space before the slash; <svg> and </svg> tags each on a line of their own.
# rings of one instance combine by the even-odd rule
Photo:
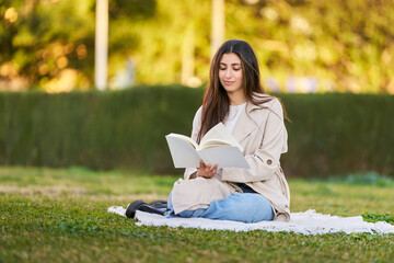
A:
<svg viewBox="0 0 394 263">
<path fill-rule="evenodd" d="M 193 121 L 193 139 L 197 139 L 200 126 L 201 107 Z M 236 183 L 245 183 L 270 202 L 274 220 L 290 220 L 290 191 L 279 162 L 280 155 L 288 150 L 280 102 L 274 99 L 258 106 L 247 102 L 233 136 L 244 148 L 243 155 L 251 169 L 223 168 L 221 174 L 212 179 L 193 180 L 189 178 L 195 169 L 186 169 L 185 179 L 175 182 L 172 192 L 175 214 L 207 208 L 216 199 L 242 192 Z"/>
</svg>

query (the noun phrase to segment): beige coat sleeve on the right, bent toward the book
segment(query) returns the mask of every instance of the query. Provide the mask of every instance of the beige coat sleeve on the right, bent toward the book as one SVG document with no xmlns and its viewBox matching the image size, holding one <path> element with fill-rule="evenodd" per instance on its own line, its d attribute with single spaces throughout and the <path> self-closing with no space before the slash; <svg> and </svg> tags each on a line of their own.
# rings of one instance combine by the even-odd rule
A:
<svg viewBox="0 0 394 263">
<path fill-rule="evenodd" d="M 262 125 L 264 126 L 264 125 Z M 257 150 L 246 155 L 251 169 L 223 168 L 222 180 L 236 183 L 251 183 L 270 179 L 280 167 L 280 155 L 287 152 L 287 130 L 283 123 L 283 111 L 278 100 L 275 100 L 266 119 L 266 125 L 259 127 L 264 133 Z"/>
</svg>

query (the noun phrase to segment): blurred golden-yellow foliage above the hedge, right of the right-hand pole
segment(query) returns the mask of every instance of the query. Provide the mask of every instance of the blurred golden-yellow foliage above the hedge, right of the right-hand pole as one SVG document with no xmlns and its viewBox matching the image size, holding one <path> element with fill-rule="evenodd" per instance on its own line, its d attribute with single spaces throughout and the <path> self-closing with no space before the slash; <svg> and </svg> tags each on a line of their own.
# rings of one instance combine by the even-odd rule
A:
<svg viewBox="0 0 394 263">
<path fill-rule="evenodd" d="M 394 93 L 394 2 L 227 1 L 228 36 L 248 39 L 285 90 L 312 76 L 321 91 Z"/>
</svg>

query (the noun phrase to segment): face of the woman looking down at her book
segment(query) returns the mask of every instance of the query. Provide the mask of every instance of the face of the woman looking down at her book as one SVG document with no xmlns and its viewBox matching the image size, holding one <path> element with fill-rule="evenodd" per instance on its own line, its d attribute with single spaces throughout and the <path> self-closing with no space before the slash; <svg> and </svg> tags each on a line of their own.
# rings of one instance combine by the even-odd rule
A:
<svg viewBox="0 0 394 263">
<path fill-rule="evenodd" d="M 219 80 L 228 94 L 239 93 L 243 95 L 243 73 L 241 68 L 241 59 L 234 53 L 223 54 L 222 58 L 220 59 Z"/>
</svg>

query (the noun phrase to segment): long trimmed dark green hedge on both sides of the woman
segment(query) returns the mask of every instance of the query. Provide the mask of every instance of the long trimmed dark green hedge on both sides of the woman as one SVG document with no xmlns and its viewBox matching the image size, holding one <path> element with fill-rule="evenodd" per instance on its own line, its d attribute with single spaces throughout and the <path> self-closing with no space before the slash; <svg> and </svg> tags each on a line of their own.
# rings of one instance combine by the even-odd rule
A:
<svg viewBox="0 0 394 263">
<path fill-rule="evenodd" d="M 394 98 L 278 94 L 287 122 L 288 176 L 375 171 L 394 174 Z M 202 89 L 140 87 L 118 92 L 0 94 L 5 165 L 174 170 L 164 136 L 189 135 Z"/>
</svg>

